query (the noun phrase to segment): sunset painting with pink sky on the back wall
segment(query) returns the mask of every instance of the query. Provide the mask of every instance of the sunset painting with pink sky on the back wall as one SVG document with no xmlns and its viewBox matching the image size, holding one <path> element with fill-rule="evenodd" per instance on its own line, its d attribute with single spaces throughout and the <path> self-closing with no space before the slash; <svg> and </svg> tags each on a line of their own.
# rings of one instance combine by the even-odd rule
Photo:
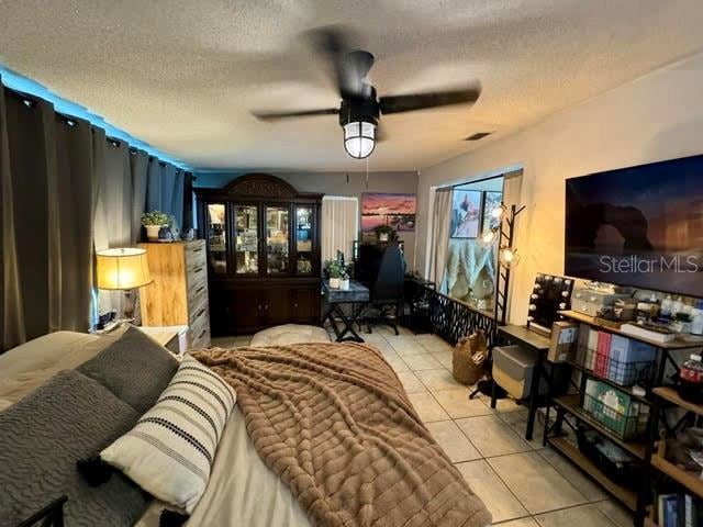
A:
<svg viewBox="0 0 703 527">
<path fill-rule="evenodd" d="M 361 194 L 361 231 L 391 225 L 397 231 L 415 231 L 415 194 L 365 192 Z"/>
</svg>

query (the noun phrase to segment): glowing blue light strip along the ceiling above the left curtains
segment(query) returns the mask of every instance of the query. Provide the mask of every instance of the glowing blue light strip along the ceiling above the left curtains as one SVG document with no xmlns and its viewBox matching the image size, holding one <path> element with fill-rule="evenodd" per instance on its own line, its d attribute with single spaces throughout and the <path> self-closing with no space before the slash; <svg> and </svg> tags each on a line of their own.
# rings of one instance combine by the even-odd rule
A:
<svg viewBox="0 0 703 527">
<path fill-rule="evenodd" d="M 0 77 L 2 77 L 2 83 L 10 89 L 21 91 L 23 93 L 27 93 L 30 96 L 38 97 L 44 99 L 52 104 L 54 104 L 54 109 L 58 113 L 63 113 L 65 115 L 70 115 L 78 119 L 83 119 L 94 126 L 103 128 L 105 134 L 109 137 L 114 137 L 115 139 L 126 142 L 131 147 L 138 148 L 141 150 L 145 150 L 148 155 L 158 157 L 159 160 L 170 162 L 171 165 L 181 168 L 183 170 L 192 171 L 192 168 L 185 161 L 180 159 L 176 159 L 163 152 L 154 148 L 153 146 L 137 139 L 136 137 L 130 135 L 129 133 L 120 130 L 110 123 L 108 123 L 100 115 L 92 113 L 85 106 L 80 104 L 76 104 L 75 102 L 68 101 L 56 93 L 51 92 L 44 86 L 38 82 L 24 77 L 23 75 L 16 74 L 4 66 L 0 65 Z"/>
</svg>

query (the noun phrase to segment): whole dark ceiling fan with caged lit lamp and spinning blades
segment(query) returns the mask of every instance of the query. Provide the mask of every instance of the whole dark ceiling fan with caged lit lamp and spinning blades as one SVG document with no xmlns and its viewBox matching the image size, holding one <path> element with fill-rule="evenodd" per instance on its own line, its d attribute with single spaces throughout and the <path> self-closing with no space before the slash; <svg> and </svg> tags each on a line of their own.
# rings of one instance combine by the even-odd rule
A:
<svg viewBox="0 0 703 527">
<path fill-rule="evenodd" d="M 376 96 L 376 88 L 366 80 L 373 55 L 352 49 L 347 32 L 339 26 L 313 30 L 309 33 L 313 48 L 331 65 L 333 80 L 342 97 L 339 108 L 292 112 L 252 112 L 261 121 L 278 121 L 314 115 L 339 115 L 344 128 L 344 147 L 356 159 L 368 157 L 379 141 L 377 126 L 381 114 L 412 112 L 449 104 L 473 104 L 481 94 L 480 83 L 462 90 L 431 91 L 404 96 Z"/>
</svg>

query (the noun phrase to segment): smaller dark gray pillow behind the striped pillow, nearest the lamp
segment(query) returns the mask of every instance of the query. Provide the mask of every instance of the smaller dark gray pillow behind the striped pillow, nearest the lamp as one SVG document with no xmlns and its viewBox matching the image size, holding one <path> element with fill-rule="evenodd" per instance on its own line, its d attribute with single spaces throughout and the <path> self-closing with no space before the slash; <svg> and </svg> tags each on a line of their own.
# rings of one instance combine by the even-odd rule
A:
<svg viewBox="0 0 703 527">
<path fill-rule="evenodd" d="M 140 414 L 156 404 L 177 369 L 178 361 L 165 347 L 133 326 L 78 367 Z"/>
</svg>

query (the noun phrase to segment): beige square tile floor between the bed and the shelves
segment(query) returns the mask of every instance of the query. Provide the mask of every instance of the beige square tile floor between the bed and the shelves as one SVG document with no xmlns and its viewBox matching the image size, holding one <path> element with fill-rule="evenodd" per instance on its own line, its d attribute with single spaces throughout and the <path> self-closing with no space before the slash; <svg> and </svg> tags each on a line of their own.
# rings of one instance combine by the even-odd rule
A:
<svg viewBox="0 0 703 527">
<path fill-rule="evenodd" d="M 468 399 L 451 377 L 451 347 L 434 335 L 362 334 L 398 372 L 420 418 L 502 527 L 628 527 L 632 515 L 560 453 L 524 439 L 526 408 Z M 250 337 L 213 339 L 246 346 Z"/>
</svg>

